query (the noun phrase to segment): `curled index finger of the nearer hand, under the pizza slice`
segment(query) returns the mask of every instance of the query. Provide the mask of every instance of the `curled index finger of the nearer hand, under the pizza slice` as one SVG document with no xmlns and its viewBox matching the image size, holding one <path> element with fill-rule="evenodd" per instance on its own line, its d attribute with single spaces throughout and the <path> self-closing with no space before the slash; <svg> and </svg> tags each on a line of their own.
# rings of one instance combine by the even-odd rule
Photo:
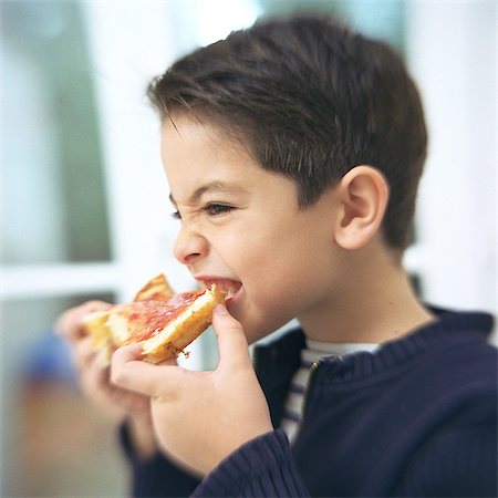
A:
<svg viewBox="0 0 498 498">
<path fill-rule="evenodd" d="M 174 365 L 153 365 L 142 361 L 142 357 L 141 343 L 116 350 L 111 364 L 112 382 L 153 397 L 178 388 L 183 369 Z"/>
</svg>

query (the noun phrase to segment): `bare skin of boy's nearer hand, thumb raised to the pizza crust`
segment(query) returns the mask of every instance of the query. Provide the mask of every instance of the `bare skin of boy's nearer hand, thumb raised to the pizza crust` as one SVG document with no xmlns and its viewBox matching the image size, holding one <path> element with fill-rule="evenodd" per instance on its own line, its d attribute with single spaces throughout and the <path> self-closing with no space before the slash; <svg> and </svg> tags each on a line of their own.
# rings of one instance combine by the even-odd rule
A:
<svg viewBox="0 0 498 498">
<path fill-rule="evenodd" d="M 220 356 L 214 372 L 142 362 L 139 344 L 117 350 L 112 363 L 115 384 L 152 397 L 160 447 L 200 475 L 240 445 L 272 430 L 242 326 L 225 307 L 216 308 L 212 325 Z"/>
</svg>

